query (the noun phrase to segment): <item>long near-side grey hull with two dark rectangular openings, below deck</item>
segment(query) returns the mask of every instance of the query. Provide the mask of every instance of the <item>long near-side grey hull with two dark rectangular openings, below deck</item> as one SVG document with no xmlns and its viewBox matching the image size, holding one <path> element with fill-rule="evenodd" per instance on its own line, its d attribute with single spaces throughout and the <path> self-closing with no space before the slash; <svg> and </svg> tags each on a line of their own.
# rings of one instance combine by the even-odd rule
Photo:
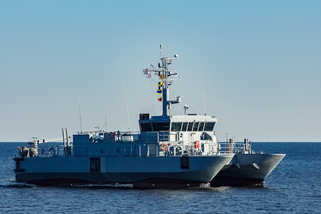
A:
<svg viewBox="0 0 321 214">
<path fill-rule="evenodd" d="M 123 183 L 132 184 L 136 189 L 182 189 L 209 186 L 231 158 L 232 155 L 34 157 L 18 160 L 15 173 L 18 182 L 39 186 Z"/>
</svg>

